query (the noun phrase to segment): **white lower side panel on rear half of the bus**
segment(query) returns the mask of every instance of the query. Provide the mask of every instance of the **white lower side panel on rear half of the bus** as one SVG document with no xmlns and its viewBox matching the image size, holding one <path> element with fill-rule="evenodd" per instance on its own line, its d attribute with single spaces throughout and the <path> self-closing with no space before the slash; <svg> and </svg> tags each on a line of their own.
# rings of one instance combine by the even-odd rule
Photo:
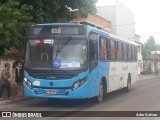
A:
<svg viewBox="0 0 160 120">
<path fill-rule="evenodd" d="M 138 79 L 137 63 L 111 62 L 109 71 L 109 92 L 127 87 L 129 74 L 131 75 L 131 84 Z"/>
</svg>

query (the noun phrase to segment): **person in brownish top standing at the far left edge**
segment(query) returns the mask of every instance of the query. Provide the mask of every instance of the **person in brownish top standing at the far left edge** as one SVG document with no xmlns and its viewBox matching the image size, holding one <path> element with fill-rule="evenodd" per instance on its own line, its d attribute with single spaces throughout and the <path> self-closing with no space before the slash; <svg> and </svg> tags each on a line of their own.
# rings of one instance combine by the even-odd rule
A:
<svg viewBox="0 0 160 120">
<path fill-rule="evenodd" d="M 5 88 L 7 90 L 8 98 L 11 98 L 11 73 L 9 70 L 10 64 L 6 63 L 5 68 L 1 73 L 0 100 L 3 100 L 2 94 Z"/>
</svg>

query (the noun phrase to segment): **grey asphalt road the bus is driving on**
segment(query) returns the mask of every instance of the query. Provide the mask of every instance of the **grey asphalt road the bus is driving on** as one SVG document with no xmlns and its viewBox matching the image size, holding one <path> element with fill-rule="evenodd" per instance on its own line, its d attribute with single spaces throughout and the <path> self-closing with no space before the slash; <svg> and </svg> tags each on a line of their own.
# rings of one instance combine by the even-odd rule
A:
<svg viewBox="0 0 160 120">
<path fill-rule="evenodd" d="M 93 100 L 55 100 L 30 99 L 14 104 L 0 106 L 0 111 L 160 111 L 160 77 L 137 81 L 130 92 L 116 91 L 101 103 Z M 65 112 L 64 112 L 65 113 Z M 114 114 L 114 113 L 113 113 Z M 92 115 L 91 115 L 92 116 Z M 116 115 L 115 115 L 116 116 Z M 13 118 L 12 118 L 13 119 Z M 14 118 L 15 120 L 17 118 Z M 25 118 L 23 118 L 25 119 Z M 26 118 L 27 119 L 27 118 Z M 35 118 L 34 118 L 35 119 Z M 48 117 L 40 120 L 106 120 L 106 117 Z M 107 120 L 160 120 L 157 117 L 107 117 Z"/>
</svg>

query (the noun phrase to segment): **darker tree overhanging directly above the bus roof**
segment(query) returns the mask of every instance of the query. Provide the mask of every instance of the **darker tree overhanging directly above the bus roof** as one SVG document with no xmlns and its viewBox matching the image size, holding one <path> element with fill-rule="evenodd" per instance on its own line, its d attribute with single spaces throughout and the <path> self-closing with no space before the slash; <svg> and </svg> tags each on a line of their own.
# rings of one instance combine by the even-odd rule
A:
<svg viewBox="0 0 160 120">
<path fill-rule="evenodd" d="M 21 4 L 33 6 L 32 22 L 68 22 L 78 16 L 87 17 L 96 12 L 97 0 L 19 0 Z M 76 9 L 76 11 L 74 11 Z"/>
</svg>

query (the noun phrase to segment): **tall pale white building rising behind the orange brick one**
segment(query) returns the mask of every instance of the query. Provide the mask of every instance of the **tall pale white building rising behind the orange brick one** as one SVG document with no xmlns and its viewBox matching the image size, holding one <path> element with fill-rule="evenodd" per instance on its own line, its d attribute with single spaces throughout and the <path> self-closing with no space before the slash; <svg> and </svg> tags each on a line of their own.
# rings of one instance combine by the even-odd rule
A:
<svg viewBox="0 0 160 120">
<path fill-rule="evenodd" d="M 134 41 L 134 14 L 121 2 L 116 0 L 113 6 L 97 7 L 97 15 L 111 21 L 111 30 L 113 34 Z"/>
</svg>

